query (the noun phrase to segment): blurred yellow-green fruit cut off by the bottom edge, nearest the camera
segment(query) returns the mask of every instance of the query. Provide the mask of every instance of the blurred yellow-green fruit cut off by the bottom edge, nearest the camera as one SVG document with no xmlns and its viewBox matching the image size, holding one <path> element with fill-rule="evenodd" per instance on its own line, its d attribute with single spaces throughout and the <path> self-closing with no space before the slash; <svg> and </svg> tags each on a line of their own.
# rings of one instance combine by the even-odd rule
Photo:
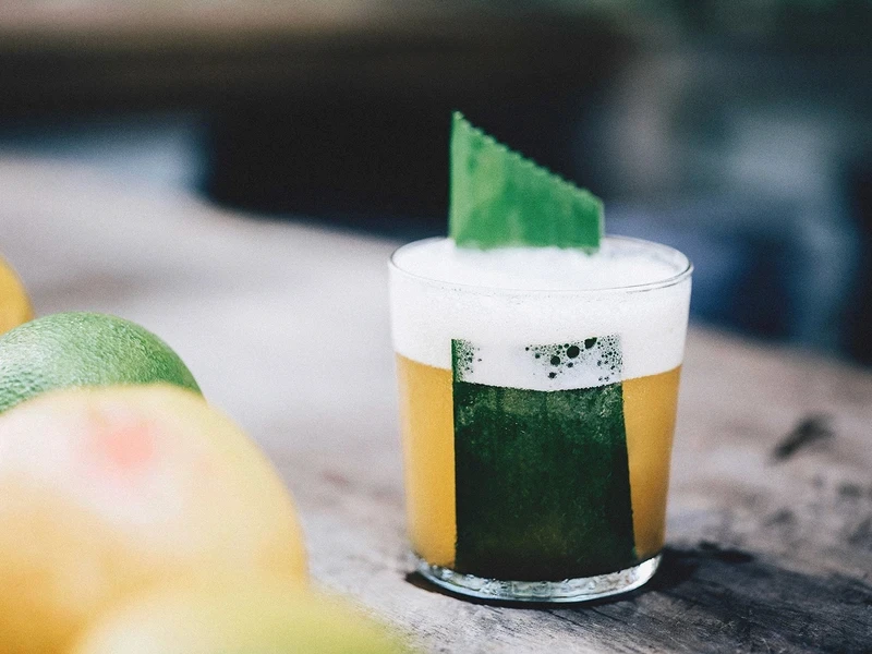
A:
<svg viewBox="0 0 872 654">
<path fill-rule="evenodd" d="M 73 654 L 399 654 L 402 639 L 356 607 L 279 584 L 172 588 L 87 630 Z"/>
</svg>

